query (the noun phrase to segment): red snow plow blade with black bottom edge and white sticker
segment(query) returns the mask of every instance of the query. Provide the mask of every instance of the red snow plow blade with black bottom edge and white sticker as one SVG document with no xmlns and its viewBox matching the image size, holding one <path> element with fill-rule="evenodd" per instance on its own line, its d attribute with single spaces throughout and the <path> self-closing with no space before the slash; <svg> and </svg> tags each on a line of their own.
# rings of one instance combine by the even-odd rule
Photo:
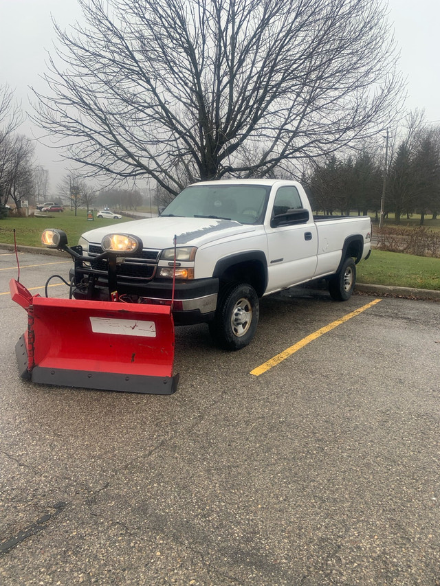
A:
<svg viewBox="0 0 440 586">
<path fill-rule="evenodd" d="M 170 306 L 32 296 L 10 282 L 28 312 L 16 346 L 21 376 L 35 383 L 172 394 L 174 324 Z"/>
</svg>

